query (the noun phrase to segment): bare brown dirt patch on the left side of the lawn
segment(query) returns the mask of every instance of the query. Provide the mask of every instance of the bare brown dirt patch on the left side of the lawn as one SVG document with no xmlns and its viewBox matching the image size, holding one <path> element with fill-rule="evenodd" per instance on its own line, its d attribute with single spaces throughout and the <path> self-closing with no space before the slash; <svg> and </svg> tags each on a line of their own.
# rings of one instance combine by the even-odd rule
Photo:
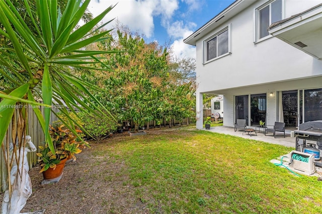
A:
<svg viewBox="0 0 322 214">
<path fill-rule="evenodd" d="M 176 128 L 152 129 L 148 135 L 163 135 Z M 91 148 L 67 161 L 63 176 L 56 184 L 42 185 L 43 176 L 36 166 L 29 172 L 33 193 L 23 212 L 46 209 L 56 213 L 150 213 L 149 207 L 137 198 L 122 158 L 105 155 L 106 147 L 130 138 L 128 133 L 114 134 L 102 143 L 91 142 Z M 2 201 L 2 195 L 1 195 Z M 0 202 L 1 202 L 0 201 Z M 159 210 L 159 213 L 163 213 Z"/>
</svg>

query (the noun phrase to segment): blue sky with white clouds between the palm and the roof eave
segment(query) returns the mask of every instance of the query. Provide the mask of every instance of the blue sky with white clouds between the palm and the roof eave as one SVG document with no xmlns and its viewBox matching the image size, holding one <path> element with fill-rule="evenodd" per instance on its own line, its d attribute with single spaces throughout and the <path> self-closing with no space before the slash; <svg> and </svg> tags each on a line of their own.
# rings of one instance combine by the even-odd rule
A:
<svg viewBox="0 0 322 214">
<path fill-rule="evenodd" d="M 92 0 L 90 12 L 96 17 L 111 5 L 115 8 L 104 22 L 116 18 L 131 31 L 145 35 L 146 42 L 169 44 L 178 57 L 195 57 L 195 48 L 183 43 L 234 0 Z M 108 28 L 112 28 L 115 23 Z"/>
</svg>

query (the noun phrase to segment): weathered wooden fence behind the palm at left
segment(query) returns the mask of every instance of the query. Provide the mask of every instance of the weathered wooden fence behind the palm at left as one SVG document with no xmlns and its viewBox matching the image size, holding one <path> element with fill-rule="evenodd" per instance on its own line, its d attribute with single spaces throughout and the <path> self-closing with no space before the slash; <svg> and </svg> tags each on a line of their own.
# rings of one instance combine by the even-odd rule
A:
<svg viewBox="0 0 322 214">
<path fill-rule="evenodd" d="M 41 145 L 42 142 L 45 141 L 44 132 L 42 131 L 41 125 L 38 122 L 37 116 L 35 115 L 34 111 L 31 109 L 32 107 L 29 106 L 28 108 L 28 130 L 27 135 L 31 136 L 31 141 L 34 143 L 34 145 L 37 147 L 37 152 L 40 152 L 38 146 Z M 44 115 L 44 108 L 40 107 L 41 113 Z M 59 112 L 58 108 L 53 108 L 52 111 L 55 113 Z M 16 113 L 18 113 L 18 109 L 16 109 Z M 19 115 L 19 113 L 18 113 Z M 53 121 L 56 121 L 57 117 L 54 115 L 54 113 L 51 113 L 50 117 L 50 124 L 52 124 Z M 6 146 L 8 143 L 12 142 L 12 123 L 9 126 L 9 129 L 7 131 L 5 140 L 3 144 Z M 0 171 L 1 171 L 1 190 L 5 191 L 7 188 L 7 170 L 5 165 L 5 160 L 3 157 L 4 153 L 3 151 L 0 152 Z M 29 167 L 33 167 L 37 164 L 37 155 L 36 152 L 29 152 L 28 153 L 28 163 Z"/>
</svg>

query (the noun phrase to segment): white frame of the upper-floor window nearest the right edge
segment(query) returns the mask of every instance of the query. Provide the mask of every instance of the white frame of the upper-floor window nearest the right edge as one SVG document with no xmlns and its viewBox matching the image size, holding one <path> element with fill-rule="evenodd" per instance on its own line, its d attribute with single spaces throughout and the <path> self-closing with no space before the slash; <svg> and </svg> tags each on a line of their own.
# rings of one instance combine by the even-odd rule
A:
<svg viewBox="0 0 322 214">
<path fill-rule="evenodd" d="M 271 0 L 271 1 L 267 2 L 267 3 L 265 3 L 264 5 L 262 5 L 262 6 L 258 7 L 258 8 L 256 8 L 256 9 L 254 9 L 254 14 L 255 14 L 255 16 L 254 16 L 254 43 L 258 43 L 258 42 L 261 42 L 261 41 L 264 41 L 264 40 L 267 40 L 267 39 L 273 37 L 272 35 L 269 34 L 269 35 L 267 35 L 267 36 L 265 36 L 263 38 L 260 38 L 260 11 L 262 9 L 264 9 L 266 6 L 269 5 L 269 7 L 270 7 L 270 14 L 269 14 L 269 16 L 270 16 L 270 22 L 271 22 L 271 19 L 272 19 L 271 18 L 271 15 L 272 15 L 271 7 L 272 7 L 272 3 L 275 2 L 275 1 L 276 0 Z M 285 16 L 285 13 L 284 13 L 285 2 L 284 1 L 285 0 L 282 0 L 282 19 L 281 20 L 283 20 L 284 19 L 284 16 Z M 270 25 L 271 24 L 272 23 L 270 23 Z"/>
</svg>

